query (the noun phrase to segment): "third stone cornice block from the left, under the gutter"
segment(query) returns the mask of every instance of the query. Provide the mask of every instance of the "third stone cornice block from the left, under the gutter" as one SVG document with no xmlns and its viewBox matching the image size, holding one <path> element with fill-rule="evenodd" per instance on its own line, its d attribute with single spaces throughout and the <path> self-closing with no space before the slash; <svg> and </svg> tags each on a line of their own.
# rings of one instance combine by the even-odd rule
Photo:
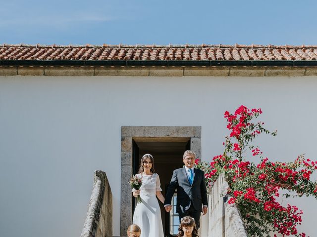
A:
<svg viewBox="0 0 317 237">
<path fill-rule="evenodd" d="M 94 76 L 93 67 L 46 67 L 44 68 L 45 76 Z"/>
</svg>

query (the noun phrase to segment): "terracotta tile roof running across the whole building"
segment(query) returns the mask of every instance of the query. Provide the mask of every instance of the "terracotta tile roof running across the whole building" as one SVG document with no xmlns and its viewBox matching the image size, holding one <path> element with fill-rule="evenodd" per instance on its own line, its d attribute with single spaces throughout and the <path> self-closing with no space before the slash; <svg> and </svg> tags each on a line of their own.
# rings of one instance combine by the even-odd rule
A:
<svg viewBox="0 0 317 237">
<path fill-rule="evenodd" d="M 277 60 L 316 61 L 317 45 L 7 45 L 0 60 Z"/>
</svg>

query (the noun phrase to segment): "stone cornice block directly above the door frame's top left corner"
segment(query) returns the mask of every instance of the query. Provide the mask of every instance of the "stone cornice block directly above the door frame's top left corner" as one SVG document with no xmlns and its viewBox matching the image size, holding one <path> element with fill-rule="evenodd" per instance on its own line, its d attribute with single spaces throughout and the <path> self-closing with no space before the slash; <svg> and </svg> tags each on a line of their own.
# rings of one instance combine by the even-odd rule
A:
<svg viewBox="0 0 317 237">
<path fill-rule="evenodd" d="M 95 76 L 149 76 L 146 67 L 96 67 Z"/>
</svg>

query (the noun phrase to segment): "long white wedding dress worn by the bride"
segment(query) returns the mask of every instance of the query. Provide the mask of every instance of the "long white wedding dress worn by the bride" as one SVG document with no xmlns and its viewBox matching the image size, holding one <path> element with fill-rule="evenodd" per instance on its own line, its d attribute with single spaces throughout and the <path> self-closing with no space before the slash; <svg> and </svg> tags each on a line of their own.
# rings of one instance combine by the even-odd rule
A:
<svg viewBox="0 0 317 237">
<path fill-rule="evenodd" d="M 133 214 L 133 224 L 141 228 L 141 237 L 164 237 L 162 220 L 160 216 L 159 202 L 156 197 L 160 188 L 159 175 L 142 175 L 140 188 L 141 203 L 138 203 Z M 134 189 L 132 192 L 135 191 Z"/>
</svg>

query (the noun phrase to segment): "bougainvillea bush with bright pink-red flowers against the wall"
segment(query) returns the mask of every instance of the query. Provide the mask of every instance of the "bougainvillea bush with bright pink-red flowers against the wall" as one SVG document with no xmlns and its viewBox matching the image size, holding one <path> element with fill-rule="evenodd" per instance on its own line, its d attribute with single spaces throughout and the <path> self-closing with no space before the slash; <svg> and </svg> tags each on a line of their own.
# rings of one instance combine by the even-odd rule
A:
<svg viewBox="0 0 317 237">
<path fill-rule="evenodd" d="M 283 190 L 285 197 L 317 198 L 317 182 L 311 180 L 317 162 L 303 155 L 293 162 L 272 162 L 264 158 L 253 140 L 261 133 L 276 136 L 276 131 L 270 132 L 263 127 L 263 122 L 255 122 L 261 114 L 261 109 L 249 110 L 245 106 L 240 106 L 234 114 L 226 111 L 224 118 L 230 134 L 223 143 L 224 153 L 210 163 L 196 160 L 196 165 L 205 171 L 209 189 L 221 173 L 225 174 L 230 187 L 228 203 L 237 205 L 250 236 L 268 237 L 273 232 L 305 237 L 305 233 L 297 231 L 303 212 L 296 206 L 282 205 L 277 197 Z"/>
</svg>

